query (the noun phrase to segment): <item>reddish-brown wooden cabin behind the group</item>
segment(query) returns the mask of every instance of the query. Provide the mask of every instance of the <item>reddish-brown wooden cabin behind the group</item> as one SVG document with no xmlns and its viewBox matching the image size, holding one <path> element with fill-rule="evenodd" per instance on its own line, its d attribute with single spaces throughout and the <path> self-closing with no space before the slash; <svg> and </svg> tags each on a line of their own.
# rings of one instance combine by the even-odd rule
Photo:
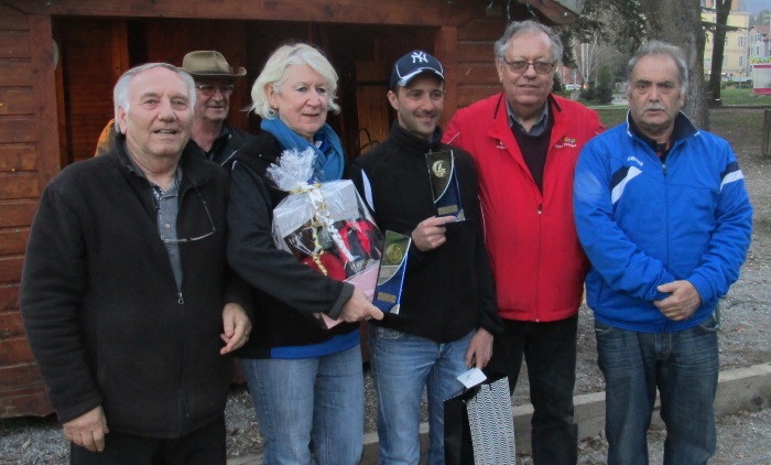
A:
<svg viewBox="0 0 771 465">
<path fill-rule="evenodd" d="M 576 18 L 555 0 L 0 0 L 0 418 L 53 411 L 19 313 L 24 247 L 37 201 L 64 166 L 93 156 L 112 117 L 112 87 L 145 62 L 181 65 L 217 50 L 245 66 L 229 120 L 254 132 L 249 89 L 279 44 L 321 46 L 340 76 L 330 123 L 349 156 L 382 141 L 390 69 L 422 48 L 446 71 L 443 123 L 500 90 L 492 43 L 508 20 Z M 567 6 L 567 7 L 565 7 Z M 510 17 L 510 18 L 508 18 Z"/>
</svg>

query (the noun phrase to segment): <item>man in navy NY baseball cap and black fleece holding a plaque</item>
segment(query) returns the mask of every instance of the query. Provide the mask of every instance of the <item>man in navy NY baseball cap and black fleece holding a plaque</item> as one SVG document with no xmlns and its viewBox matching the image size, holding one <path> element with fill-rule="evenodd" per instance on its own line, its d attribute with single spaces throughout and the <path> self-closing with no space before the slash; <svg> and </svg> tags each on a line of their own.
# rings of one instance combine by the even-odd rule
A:
<svg viewBox="0 0 771 465">
<path fill-rule="evenodd" d="M 481 236 L 477 173 L 463 150 L 452 153 L 465 219 L 436 214 L 426 154 L 449 151 L 437 128 L 444 93 L 438 60 L 422 51 L 399 58 L 388 91 L 398 121 L 350 170 L 378 226 L 412 238 L 400 305 L 372 321 L 369 336 L 380 463 L 419 463 L 423 389 L 427 463 L 444 463 L 444 400 L 463 391 L 459 375 L 487 364 L 492 335 L 503 328 Z"/>
</svg>

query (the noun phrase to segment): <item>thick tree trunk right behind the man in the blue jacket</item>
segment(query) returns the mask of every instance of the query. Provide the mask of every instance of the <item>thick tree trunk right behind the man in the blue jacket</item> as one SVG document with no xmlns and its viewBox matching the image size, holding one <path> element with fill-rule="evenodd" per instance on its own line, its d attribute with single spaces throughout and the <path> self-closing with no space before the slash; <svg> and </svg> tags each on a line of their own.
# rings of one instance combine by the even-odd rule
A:
<svg viewBox="0 0 771 465">
<path fill-rule="evenodd" d="M 677 45 L 688 66 L 688 94 L 683 112 L 698 128 L 709 129 L 704 88 L 704 43 L 699 0 L 648 0 L 642 2 L 648 36 Z"/>
</svg>

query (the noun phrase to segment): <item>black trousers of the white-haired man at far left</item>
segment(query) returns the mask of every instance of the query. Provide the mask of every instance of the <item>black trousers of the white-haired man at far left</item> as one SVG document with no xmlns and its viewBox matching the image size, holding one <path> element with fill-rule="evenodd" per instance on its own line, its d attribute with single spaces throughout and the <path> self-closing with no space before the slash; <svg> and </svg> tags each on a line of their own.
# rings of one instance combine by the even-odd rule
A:
<svg viewBox="0 0 771 465">
<path fill-rule="evenodd" d="M 110 425 L 107 418 L 107 426 Z M 70 444 L 72 465 L 225 465 L 225 415 L 176 439 L 108 433 L 102 452 Z"/>
</svg>

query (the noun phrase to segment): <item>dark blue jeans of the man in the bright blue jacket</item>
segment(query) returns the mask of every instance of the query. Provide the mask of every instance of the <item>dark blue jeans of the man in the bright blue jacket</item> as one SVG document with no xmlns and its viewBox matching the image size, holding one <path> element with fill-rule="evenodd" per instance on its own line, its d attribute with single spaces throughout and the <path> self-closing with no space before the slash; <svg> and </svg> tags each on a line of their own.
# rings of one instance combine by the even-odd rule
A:
<svg viewBox="0 0 771 465">
<path fill-rule="evenodd" d="M 638 333 L 595 322 L 605 376 L 608 464 L 647 464 L 648 428 L 661 396 L 664 464 L 706 464 L 715 453 L 713 403 L 719 359 L 715 320 L 674 333 Z"/>
</svg>

